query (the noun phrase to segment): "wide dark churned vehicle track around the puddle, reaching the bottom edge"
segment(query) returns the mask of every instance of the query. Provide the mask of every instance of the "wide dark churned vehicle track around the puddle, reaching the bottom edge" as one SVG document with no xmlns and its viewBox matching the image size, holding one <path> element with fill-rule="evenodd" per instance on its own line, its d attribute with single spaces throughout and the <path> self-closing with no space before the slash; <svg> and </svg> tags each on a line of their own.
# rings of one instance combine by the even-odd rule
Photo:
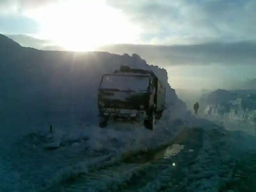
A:
<svg viewBox="0 0 256 192">
<path fill-rule="evenodd" d="M 105 161 L 102 166 L 92 166 L 87 172 L 73 174 L 42 191 L 128 192 L 148 191 L 149 188 L 154 191 L 168 191 L 170 185 L 173 188 L 182 188 L 178 185 L 182 177 L 180 170 L 193 164 L 202 143 L 202 129 L 183 129 L 174 140 L 154 151 L 133 154 L 117 162 L 111 163 L 110 160 L 109 164 Z M 185 145 L 185 147 L 178 155 L 164 158 L 166 148 L 172 144 Z M 159 185 L 159 182 L 162 184 Z"/>
</svg>

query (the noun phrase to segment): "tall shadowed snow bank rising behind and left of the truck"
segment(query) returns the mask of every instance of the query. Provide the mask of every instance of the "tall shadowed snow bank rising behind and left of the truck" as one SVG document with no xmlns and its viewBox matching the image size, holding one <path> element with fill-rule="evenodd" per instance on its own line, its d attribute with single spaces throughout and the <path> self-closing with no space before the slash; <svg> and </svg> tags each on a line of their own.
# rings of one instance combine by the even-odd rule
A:
<svg viewBox="0 0 256 192">
<path fill-rule="evenodd" d="M 38 117 L 42 124 L 48 125 L 56 117 L 70 120 L 73 116 L 80 118 L 80 122 L 81 119 L 92 122 L 97 118 L 100 78 L 103 73 L 119 69 L 120 65 L 154 71 L 167 87 L 169 106 L 175 111 L 186 109 L 185 103 L 168 84 L 166 70 L 148 65 L 136 54 L 41 51 L 21 47 L 3 35 L 0 36 L 0 50 L 2 123 L 9 124 L 10 116 L 16 122 L 27 119 L 30 124 L 33 119 L 38 123 Z"/>
</svg>

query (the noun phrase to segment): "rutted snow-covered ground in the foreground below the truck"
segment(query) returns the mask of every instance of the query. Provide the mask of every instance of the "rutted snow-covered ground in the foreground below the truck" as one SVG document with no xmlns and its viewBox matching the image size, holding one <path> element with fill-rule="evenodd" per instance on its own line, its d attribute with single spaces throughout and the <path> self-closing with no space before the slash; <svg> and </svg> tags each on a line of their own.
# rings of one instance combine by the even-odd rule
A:
<svg viewBox="0 0 256 192">
<path fill-rule="evenodd" d="M 6 150 L 1 190 L 206 191 L 224 185 L 234 166 L 229 133 L 189 115 L 187 121 L 168 119 L 166 111 L 155 132 L 116 125 L 111 129 L 88 126 L 76 133 L 53 130 L 53 134 L 29 134 Z M 47 145 L 52 141 L 54 145 Z M 166 153 L 172 144 L 185 147 L 175 157 L 164 158 L 161 152 Z M 153 161 L 147 153 L 160 157 Z M 147 157 L 140 162 L 143 156 Z M 137 183 L 131 188 L 128 183 L 135 179 L 145 185 Z"/>
</svg>

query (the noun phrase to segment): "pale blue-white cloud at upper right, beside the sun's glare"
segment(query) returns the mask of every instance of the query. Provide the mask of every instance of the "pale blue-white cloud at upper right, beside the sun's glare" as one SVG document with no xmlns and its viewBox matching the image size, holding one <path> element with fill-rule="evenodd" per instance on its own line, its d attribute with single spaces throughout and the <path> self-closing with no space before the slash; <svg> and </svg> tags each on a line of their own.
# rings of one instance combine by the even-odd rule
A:
<svg viewBox="0 0 256 192">
<path fill-rule="evenodd" d="M 145 42 L 196 44 L 256 40 L 254 0 L 107 2 L 121 9 L 132 23 L 144 28 L 142 41 Z"/>
</svg>

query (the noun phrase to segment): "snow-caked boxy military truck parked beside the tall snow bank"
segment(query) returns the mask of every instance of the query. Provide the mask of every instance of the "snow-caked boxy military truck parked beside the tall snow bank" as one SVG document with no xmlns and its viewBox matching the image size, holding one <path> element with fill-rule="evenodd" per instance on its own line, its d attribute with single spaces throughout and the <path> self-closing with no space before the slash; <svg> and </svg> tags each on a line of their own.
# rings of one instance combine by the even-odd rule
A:
<svg viewBox="0 0 256 192">
<path fill-rule="evenodd" d="M 165 87 L 151 70 L 121 66 L 102 75 L 98 89 L 99 127 L 108 120 L 143 120 L 153 130 L 165 108 Z"/>
</svg>

